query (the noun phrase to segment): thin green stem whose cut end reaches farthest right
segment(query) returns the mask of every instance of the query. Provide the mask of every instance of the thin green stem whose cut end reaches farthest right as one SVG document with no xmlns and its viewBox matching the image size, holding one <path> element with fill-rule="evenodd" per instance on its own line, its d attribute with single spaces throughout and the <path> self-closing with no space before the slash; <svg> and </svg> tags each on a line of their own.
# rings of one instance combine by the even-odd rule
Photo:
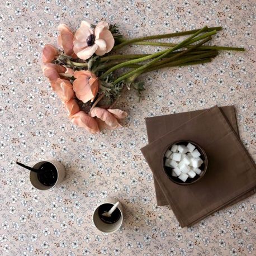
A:
<svg viewBox="0 0 256 256">
<path fill-rule="evenodd" d="M 171 42 L 135 42 L 135 45 L 153 45 L 153 46 L 166 46 L 166 47 L 173 47 L 177 44 L 173 44 Z M 191 45 L 186 45 L 186 48 L 191 47 Z M 229 46 L 217 46 L 217 45 L 203 45 L 198 48 L 199 50 L 226 50 L 226 51 L 245 51 L 244 48 L 240 47 L 229 47 Z"/>
</svg>

